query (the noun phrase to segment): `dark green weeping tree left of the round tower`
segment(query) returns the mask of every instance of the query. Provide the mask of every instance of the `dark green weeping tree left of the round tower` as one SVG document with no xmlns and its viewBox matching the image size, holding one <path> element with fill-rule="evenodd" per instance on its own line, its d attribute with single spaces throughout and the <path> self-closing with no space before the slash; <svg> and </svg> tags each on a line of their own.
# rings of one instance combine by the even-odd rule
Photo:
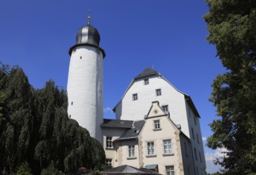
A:
<svg viewBox="0 0 256 175">
<path fill-rule="evenodd" d="M 0 69 L 0 170 L 28 162 L 33 174 L 52 163 L 63 172 L 100 169 L 104 150 L 67 115 L 66 92 L 53 81 L 34 89 L 22 68 Z M 1 173 L 1 172 L 0 172 Z"/>
</svg>

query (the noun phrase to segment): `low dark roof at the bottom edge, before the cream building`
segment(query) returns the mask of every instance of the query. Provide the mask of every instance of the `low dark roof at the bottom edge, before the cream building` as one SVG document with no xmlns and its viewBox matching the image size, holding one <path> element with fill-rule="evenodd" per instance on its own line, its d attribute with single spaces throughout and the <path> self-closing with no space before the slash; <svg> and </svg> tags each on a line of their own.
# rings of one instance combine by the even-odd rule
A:
<svg viewBox="0 0 256 175">
<path fill-rule="evenodd" d="M 160 174 L 149 169 L 140 168 L 137 169 L 130 165 L 121 165 L 112 169 L 105 169 L 102 171 L 103 174 Z"/>
</svg>

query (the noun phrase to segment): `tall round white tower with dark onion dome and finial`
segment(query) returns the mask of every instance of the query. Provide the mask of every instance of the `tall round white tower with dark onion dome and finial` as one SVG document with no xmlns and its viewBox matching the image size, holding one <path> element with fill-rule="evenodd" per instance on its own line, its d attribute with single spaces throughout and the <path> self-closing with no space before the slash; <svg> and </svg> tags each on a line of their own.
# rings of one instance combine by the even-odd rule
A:
<svg viewBox="0 0 256 175">
<path fill-rule="evenodd" d="M 77 44 L 69 49 L 68 97 L 69 118 L 89 130 L 91 137 L 101 141 L 103 122 L 103 59 L 100 34 L 90 25 L 77 32 Z"/>
</svg>

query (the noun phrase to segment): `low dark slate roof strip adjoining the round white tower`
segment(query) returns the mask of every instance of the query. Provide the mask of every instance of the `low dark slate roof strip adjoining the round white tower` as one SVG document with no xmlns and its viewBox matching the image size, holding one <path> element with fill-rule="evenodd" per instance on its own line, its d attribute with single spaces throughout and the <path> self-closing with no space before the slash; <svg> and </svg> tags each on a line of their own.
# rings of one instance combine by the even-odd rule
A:
<svg viewBox="0 0 256 175">
<path fill-rule="evenodd" d="M 104 119 L 102 127 L 132 128 L 132 120 Z"/>
</svg>

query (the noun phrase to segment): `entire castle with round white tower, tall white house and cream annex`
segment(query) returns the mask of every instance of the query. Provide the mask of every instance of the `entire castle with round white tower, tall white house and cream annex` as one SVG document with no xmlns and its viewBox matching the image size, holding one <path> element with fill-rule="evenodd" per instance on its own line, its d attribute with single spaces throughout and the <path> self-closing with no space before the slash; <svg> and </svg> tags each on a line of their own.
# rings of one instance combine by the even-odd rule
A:
<svg viewBox="0 0 256 175">
<path fill-rule="evenodd" d="M 70 50 L 69 117 L 104 146 L 113 167 L 132 165 L 161 174 L 206 174 L 200 116 L 189 95 L 159 72 L 136 76 L 113 111 L 103 119 L 103 59 L 100 35 L 90 23 Z"/>
</svg>

